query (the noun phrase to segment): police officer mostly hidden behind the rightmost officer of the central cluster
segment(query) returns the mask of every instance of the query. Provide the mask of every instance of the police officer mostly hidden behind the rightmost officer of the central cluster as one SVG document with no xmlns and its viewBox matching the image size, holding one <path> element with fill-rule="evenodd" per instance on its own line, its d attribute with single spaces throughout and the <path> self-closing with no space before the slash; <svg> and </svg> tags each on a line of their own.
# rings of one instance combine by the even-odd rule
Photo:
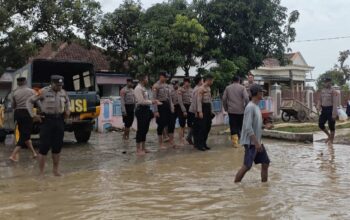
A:
<svg viewBox="0 0 350 220">
<path fill-rule="evenodd" d="M 196 103 L 197 103 L 197 99 L 196 99 L 196 94 L 197 94 L 197 91 L 198 89 L 202 86 L 203 84 L 203 79 L 200 75 L 197 75 L 195 78 L 194 78 L 194 83 L 196 84 L 196 86 L 193 88 L 192 90 L 192 96 L 191 96 L 191 105 L 190 105 L 190 108 L 189 108 L 189 114 L 188 114 L 188 118 L 193 122 L 192 123 L 192 127 L 189 129 L 189 132 L 188 132 L 188 135 L 187 135 L 187 142 L 190 144 L 190 145 L 194 145 L 195 148 L 197 148 L 197 145 L 196 143 L 194 143 L 194 121 L 195 121 L 195 117 L 196 117 L 196 114 L 197 114 L 197 111 L 196 111 Z M 193 141 L 192 141 L 193 139 Z"/>
</svg>

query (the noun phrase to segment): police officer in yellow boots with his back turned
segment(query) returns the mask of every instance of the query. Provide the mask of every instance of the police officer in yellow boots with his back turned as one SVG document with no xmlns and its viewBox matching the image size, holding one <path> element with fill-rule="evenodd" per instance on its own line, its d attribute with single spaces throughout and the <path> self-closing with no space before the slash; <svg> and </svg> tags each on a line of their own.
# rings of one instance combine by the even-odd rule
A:
<svg viewBox="0 0 350 220">
<path fill-rule="evenodd" d="M 232 84 L 227 86 L 222 96 L 223 107 L 229 115 L 231 141 L 233 147 L 239 147 L 243 125 L 244 108 L 249 102 L 247 90 L 242 86 L 240 78 L 234 76 Z"/>
</svg>

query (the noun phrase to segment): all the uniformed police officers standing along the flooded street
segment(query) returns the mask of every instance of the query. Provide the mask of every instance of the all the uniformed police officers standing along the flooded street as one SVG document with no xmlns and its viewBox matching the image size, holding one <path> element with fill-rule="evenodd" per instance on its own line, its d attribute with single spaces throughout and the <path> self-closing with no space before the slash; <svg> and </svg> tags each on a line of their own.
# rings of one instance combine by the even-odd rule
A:
<svg viewBox="0 0 350 220">
<path fill-rule="evenodd" d="M 166 148 L 164 137 L 169 136 L 170 147 L 178 147 L 174 140 L 176 119 L 179 119 L 179 139 L 181 145 L 184 139 L 190 145 L 200 151 L 210 150 L 207 145 L 208 134 L 211 129 L 212 119 L 215 117 L 212 107 L 211 86 L 213 76 L 208 74 L 194 78 L 195 87 L 191 88 L 189 78 L 183 80 L 183 85 L 178 82 L 169 83 L 166 72 L 160 72 L 159 80 L 152 86 L 152 97 L 149 96 L 147 85 L 148 76 L 140 74 L 138 85 L 134 89 L 132 79 L 127 80 L 127 85 L 121 90 L 121 109 L 125 131 L 123 138 L 129 139 L 130 128 L 134 117 L 137 120 L 136 146 L 137 155 L 145 155 L 149 151 L 145 142 L 151 119 L 155 117 L 158 135 L 158 143 L 161 149 Z M 16 144 L 10 160 L 18 161 L 20 148 L 28 147 L 33 157 L 37 153 L 30 140 L 33 120 L 41 123 L 39 145 L 40 174 L 44 174 L 46 155 L 51 149 L 53 160 L 53 173 L 60 176 L 59 161 L 64 137 L 64 120 L 69 117 L 69 98 L 62 88 L 64 78 L 59 75 L 51 76 L 51 85 L 44 87 L 40 92 L 28 88 L 26 78 L 17 79 L 18 88 L 13 92 L 15 120 L 19 130 L 19 140 Z M 326 78 L 325 88 L 321 92 L 318 109 L 321 111 L 319 127 L 323 130 L 332 143 L 335 135 L 335 119 L 337 117 L 338 93 L 332 88 L 331 79 Z M 223 106 L 229 114 L 232 142 L 238 145 L 238 138 L 242 129 L 244 108 L 250 98 L 250 87 L 255 85 L 252 74 L 248 75 L 248 84 L 242 86 L 238 77 L 233 78 L 223 95 Z M 33 112 L 36 105 L 39 113 Z M 326 129 L 328 121 L 330 132 Z M 185 127 L 188 127 L 187 137 L 184 137 Z"/>
</svg>

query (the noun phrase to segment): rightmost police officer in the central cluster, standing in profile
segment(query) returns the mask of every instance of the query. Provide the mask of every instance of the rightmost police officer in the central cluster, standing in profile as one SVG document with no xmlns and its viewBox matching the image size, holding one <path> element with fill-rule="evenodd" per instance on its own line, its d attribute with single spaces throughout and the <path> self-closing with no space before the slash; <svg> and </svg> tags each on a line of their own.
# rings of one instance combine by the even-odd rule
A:
<svg viewBox="0 0 350 220">
<path fill-rule="evenodd" d="M 210 86 L 213 84 L 213 76 L 208 74 L 204 77 L 204 83 L 194 95 L 196 99 L 196 115 L 194 120 L 194 143 L 198 150 L 210 150 L 207 145 L 208 135 L 211 129 L 212 119 L 215 114 L 212 112 L 212 98 Z"/>
</svg>

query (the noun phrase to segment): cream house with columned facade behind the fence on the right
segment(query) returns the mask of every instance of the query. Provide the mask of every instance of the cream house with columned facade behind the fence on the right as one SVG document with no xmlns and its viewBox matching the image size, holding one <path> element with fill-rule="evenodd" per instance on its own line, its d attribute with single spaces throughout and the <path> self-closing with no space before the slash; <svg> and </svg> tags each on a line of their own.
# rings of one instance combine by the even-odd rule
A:
<svg viewBox="0 0 350 220">
<path fill-rule="evenodd" d="M 309 66 L 300 52 L 285 54 L 286 65 L 281 65 L 275 58 L 267 58 L 263 65 L 251 70 L 254 78 L 270 93 L 271 88 L 276 83 L 282 89 L 291 91 L 303 91 L 305 83 L 312 81 L 311 76 L 313 66 Z"/>
</svg>

